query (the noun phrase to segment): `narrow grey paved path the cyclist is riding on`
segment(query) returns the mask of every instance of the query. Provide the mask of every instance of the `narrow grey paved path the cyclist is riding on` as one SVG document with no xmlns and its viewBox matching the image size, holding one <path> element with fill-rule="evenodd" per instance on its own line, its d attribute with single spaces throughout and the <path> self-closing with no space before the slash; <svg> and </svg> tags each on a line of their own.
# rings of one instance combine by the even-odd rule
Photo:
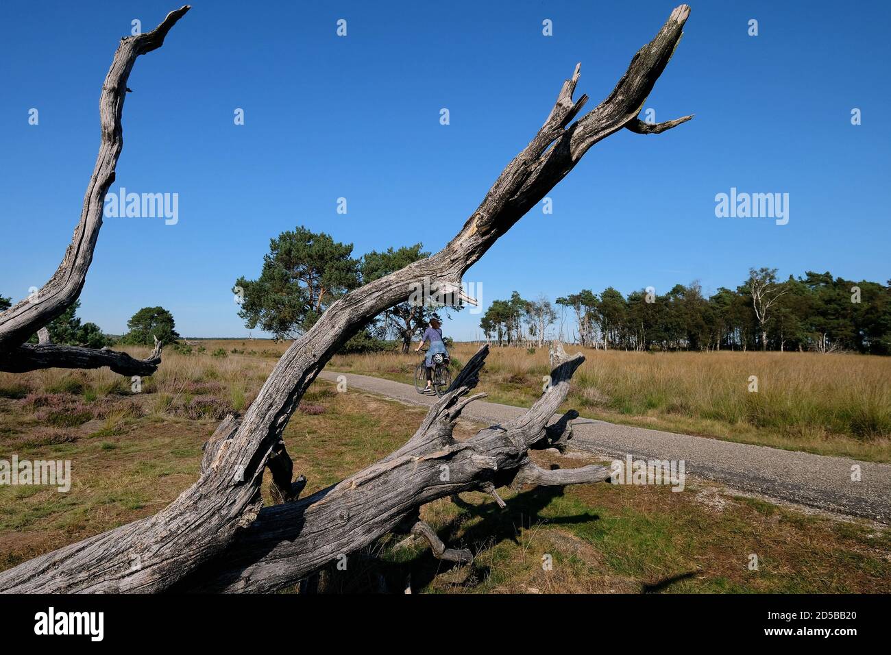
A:
<svg viewBox="0 0 891 655">
<path fill-rule="evenodd" d="M 320 377 L 337 381 L 339 375 L 346 375 L 348 387 L 405 403 L 431 405 L 434 401 L 401 382 L 327 370 Z M 477 400 L 464 409 L 462 416 L 495 424 L 509 422 L 525 411 L 522 407 Z M 593 419 L 578 418 L 572 425 L 571 443 L 577 450 L 623 460 L 627 454 L 641 459 L 683 460 L 686 473 L 740 491 L 891 524 L 891 464 L 738 444 Z M 851 479 L 854 466 L 860 467 L 858 482 Z"/>
</svg>

